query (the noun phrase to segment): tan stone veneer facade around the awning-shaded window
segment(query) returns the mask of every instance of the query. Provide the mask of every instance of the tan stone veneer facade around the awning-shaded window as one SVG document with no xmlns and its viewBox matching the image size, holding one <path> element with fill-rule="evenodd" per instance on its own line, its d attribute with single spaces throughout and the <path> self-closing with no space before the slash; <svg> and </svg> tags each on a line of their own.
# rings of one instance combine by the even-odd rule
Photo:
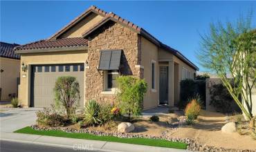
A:
<svg viewBox="0 0 256 152">
<path fill-rule="evenodd" d="M 103 71 L 98 70 L 100 50 L 122 49 L 121 75 L 143 77 L 140 65 L 140 36 L 119 23 L 109 22 L 88 36 L 88 64 L 85 79 L 85 99 L 98 102 L 115 102 L 116 95 L 102 94 L 104 88 Z"/>
</svg>

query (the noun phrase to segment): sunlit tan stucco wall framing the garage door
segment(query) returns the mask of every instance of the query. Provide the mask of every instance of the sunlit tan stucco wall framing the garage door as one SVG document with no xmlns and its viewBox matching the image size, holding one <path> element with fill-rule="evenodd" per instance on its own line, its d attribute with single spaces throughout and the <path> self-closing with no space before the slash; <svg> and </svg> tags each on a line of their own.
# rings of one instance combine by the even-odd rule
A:
<svg viewBox="0 0 256 152">
<path fill-rule="evenodd" d="M 19 100 L 21 104 L 23 106 L 29 106 L 30 103 L 31 65 L 84 63 L 88 57 L 87 55 L 87 50 L 69 50 L 57 53 L 30 53 L 21 55 L 21 64 L 24 63 L 25 65 L 28 65 L 28 70 L 26 72 L 21 71 L 20 75 Z M 26 77 L 23 75 L 26 75 Z"/>
</svg>

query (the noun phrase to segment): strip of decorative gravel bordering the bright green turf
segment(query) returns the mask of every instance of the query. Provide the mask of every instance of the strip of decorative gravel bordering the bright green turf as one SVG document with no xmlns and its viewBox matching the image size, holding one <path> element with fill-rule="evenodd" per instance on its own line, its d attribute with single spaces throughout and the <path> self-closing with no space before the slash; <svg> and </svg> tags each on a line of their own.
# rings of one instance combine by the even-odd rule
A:
<svg viewBox="0 0 256 152">
<path fill-rule="evenodd" d="M 102 131 L 91 131 L 89 129 L 66 129 L 66 128 L 61 128 L 61 127 L 42 127 L 42 126 L 37 126 L 37 125 L 32 125 L 31 126 L 33 129 L 37 131 L 64 131 L 66 133 L 91 133 L 93 135 L 111 135 L 115 137 L 123 137 L 123 138 L 131 138 L 131 137 L 144 137 L 144 138 L 149 138 L 149 139 L 158 139 L 158 140 L 169 140 L 172 142 L 184 142 L 188 144 L 187 150 L 189 151 L 237 151 L 237 152 L 256 152 L 255 150 L 238 150 L 238 149 L 224 149 L 222 147 L 214 147 L 214 146 L 207 146 L 205 144 L 198 144 L 194 140 L 191 140 L 189 138 L 178 138 L 178 137 L 170 137 L 170 135 L 167 135 L 167 131 L 162 133 L 161 136 L 154 136 L 154 135 L 143 135 L 143 134 L 134 134 L 134 133 L 106 133 Z M 172 130 L 172 129 L 170 129 Z"/>
</svg>

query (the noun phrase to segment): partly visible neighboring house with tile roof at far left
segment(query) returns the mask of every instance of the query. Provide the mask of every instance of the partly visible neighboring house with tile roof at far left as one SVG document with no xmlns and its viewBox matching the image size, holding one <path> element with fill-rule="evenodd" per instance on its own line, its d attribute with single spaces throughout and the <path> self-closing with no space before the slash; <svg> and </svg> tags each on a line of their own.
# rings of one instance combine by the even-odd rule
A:
<svg viewBox="0 0 256 152">
<path fill-rule="evenodd" d="M 0 42 L 0 100 L 10 101 L 17 96 L 20 55 L 15 55 L 13 48 L 19 44 Z"/>
</svg>

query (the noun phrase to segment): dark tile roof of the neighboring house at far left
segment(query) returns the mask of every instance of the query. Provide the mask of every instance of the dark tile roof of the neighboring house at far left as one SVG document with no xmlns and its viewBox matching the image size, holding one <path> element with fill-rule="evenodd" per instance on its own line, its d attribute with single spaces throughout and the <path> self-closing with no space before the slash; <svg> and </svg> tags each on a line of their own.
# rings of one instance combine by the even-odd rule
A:
<svg viewBox="0 0 256 152">
<path fill-rule="evenodd" d="M 20 59 L 20 55 L 15 54 L 15 51 L 13 50 L 15 46 L 19 46 L 19 44 L 8 44 L 0 41 L 0 57 Z"/>
</svg>

